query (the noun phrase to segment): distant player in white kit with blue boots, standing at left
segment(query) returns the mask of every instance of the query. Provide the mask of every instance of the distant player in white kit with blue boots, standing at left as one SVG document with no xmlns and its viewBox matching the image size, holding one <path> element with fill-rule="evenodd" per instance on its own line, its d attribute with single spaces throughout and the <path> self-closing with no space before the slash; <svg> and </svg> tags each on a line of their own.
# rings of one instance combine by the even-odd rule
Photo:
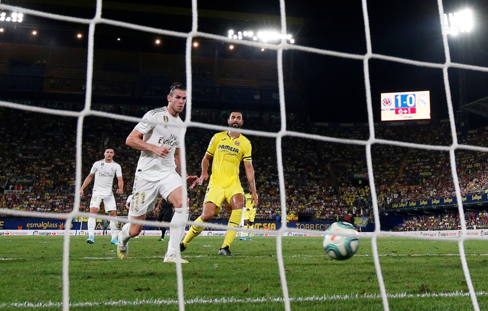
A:
<svg viewBox="0 0 488 311">
<path fill-rule="evenodd" d="M 122 167 L 113 160 L 115 155 L 114 149 L 105 149 L 103 160 L 97 161 L 93 164 L 90 174 L 86 177 L 83 185 L 81 185 L 80 196 L 83 196 L 83 190 L 88 186 L 93 177 L 95 177 L 95 185 L 93 186 L 92 198 L 90 201 L 90 213 L 97 214 L 100 210 L 100 204 L 103 202 L 105 211 L 112 217 L 117 217 L 117 205 L 115 203 L 114 192 L 112 186 L 114 183 L 114 177 L 117 176 L 118 194 L 123 193 L 123 181 L 122 181 Z M 97 219 L 95 217 L 88 218 L 88 239 L 86 243 L 95 243 L 95 225 Z M 110 220 L 110 231 L 112 233 L 112 244 L 117 244 L 117 222 Z"/>
</svg>

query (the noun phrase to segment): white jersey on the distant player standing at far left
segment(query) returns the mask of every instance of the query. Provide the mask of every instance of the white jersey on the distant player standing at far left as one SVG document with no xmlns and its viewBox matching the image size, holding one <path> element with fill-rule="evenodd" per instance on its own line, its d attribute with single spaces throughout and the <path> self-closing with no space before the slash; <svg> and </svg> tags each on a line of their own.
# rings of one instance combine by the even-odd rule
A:
<svg viewBox="0 0 488 311">
<path fill-rule="evenodd" d="M 114 194 L 112 190 L 114 177 L 122 177 L 122 167 L 115 161 L 109 163 L 105 162 L 105 160 L 100 160 L 93 164 L 90 173 L 95 174 L 93 193 L 100 195 Z"/>
</svg>

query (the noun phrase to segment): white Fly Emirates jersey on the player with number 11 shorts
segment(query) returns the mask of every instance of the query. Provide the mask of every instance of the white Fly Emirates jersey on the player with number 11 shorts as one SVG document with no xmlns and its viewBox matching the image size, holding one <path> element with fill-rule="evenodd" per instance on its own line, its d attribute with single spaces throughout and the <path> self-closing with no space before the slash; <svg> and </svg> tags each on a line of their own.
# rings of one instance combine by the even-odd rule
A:
<svg viewBox="0 0 488 311">
<path fill-rule="evenodd" d="M 142 140 L 151 145 L 171 149 L 165 158 L 158 157 L 151 151 L 141 151 L 136 176 L 149 182 L 156 182 L 161 180 L 164 172 L 176 169 L 175 150 L 180 147 L 178 143 L 180 135 L 184 137 L 186 132 L 185 127 L 178 127 L 182 125 L 182 119 L 173 117 L 166 107 L 151 110 L 144 115 L 142 122 L 134 127 L 144 134 Z"/>
</svg>

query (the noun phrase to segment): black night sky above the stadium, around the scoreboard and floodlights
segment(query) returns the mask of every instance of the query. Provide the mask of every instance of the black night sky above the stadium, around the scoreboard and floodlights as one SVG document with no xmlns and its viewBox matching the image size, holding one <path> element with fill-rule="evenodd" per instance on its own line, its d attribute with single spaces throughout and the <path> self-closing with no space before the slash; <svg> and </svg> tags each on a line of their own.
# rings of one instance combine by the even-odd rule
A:
<svg viewBox="0 0 488 311">
<path fill-rule="evenodd" d="M 87 1 L 94 2 L 94 1 Z M 117 2 L 134 3 L 133 0 Z M 69 6 L 49 6 L 27 2 L 2 1 L 59 14 L 80 17 L 93 16 L 93 9 Z M 141 4 L 190 8 L 190 1 L 138 1 Z M 300 45 L 346 53 L 365 54 L 366 39 L 362 4 L 359 0 L 312 1 L 287 0 L 288 16 L 304 19 L 301 27 L 290 27 L 297 32 Z M 449 36 L 453 62 L 488 66 L 488 1 L 445 0 L 445 12 L 469 8 L 475 17 L 472 32 Z M 199 9 L 280 14 L 279 1 L 199 1 Z M 368 15 L 373 53 L 424 62 L 445 62 L 440 21 L 436 0 L 368 1 Z M 159 16 L 119 10 L 104 10 L 103 17 L 142 25 L 189 31 L 189 16 Z M 199 30 L 224 35 L 232 26 L 245 25 L 244 21 L 199 20 Z M 247 23 L 252 24 L 252 23 Z M 71 24 L 71 26 L 73 26 Z M 276 29 L 279 29 L 279 24 Z M 82 26 L 84 27 L 84 26 Z M 97 31 L 103 26 L 97 26 Z M 110 30 L 110 28 L 107 31 Z M 180 48 L 183 50 L 184 41 Z M 293 56 L 291 55 L 293 54 Z M 275 53 L 276 55 L 276 53 Z M 274 57 L 272 54 L 270 57 Z M 300 51 L 285 51 L 285 58 L 293 58 L 294 76 L 301 81 L 301 91 L 308 102 L 308 114 L 313 121 L 363 122 L 367 121 L 366 92 L 363 62 L 358 60 L 322 56 Z M 446 93 L 441 69 L 404 65 L 396 62 L 370 60 L 370 81 L 375 121 L 379 121 L 380 93 L 393 91 L 429 90 L 432 118 L 447 117 Z M 459 69 L 449 69 L 452 101 L 459 104 Z M 488 96 L 488 73 L 465 70 L 466 102 Z"/>
</svg>

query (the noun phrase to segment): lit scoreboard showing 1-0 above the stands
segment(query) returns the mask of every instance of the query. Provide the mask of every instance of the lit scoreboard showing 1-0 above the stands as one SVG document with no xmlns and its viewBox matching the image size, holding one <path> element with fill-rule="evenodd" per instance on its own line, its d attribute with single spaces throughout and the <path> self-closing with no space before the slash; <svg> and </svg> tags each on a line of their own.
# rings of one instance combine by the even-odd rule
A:
<svg viewBox="0 0 488 311">
<path fill-rule="evenodd" d="M 429 91 L 381 94 L 381 121 L 430 119 Z"/>
</svg>

